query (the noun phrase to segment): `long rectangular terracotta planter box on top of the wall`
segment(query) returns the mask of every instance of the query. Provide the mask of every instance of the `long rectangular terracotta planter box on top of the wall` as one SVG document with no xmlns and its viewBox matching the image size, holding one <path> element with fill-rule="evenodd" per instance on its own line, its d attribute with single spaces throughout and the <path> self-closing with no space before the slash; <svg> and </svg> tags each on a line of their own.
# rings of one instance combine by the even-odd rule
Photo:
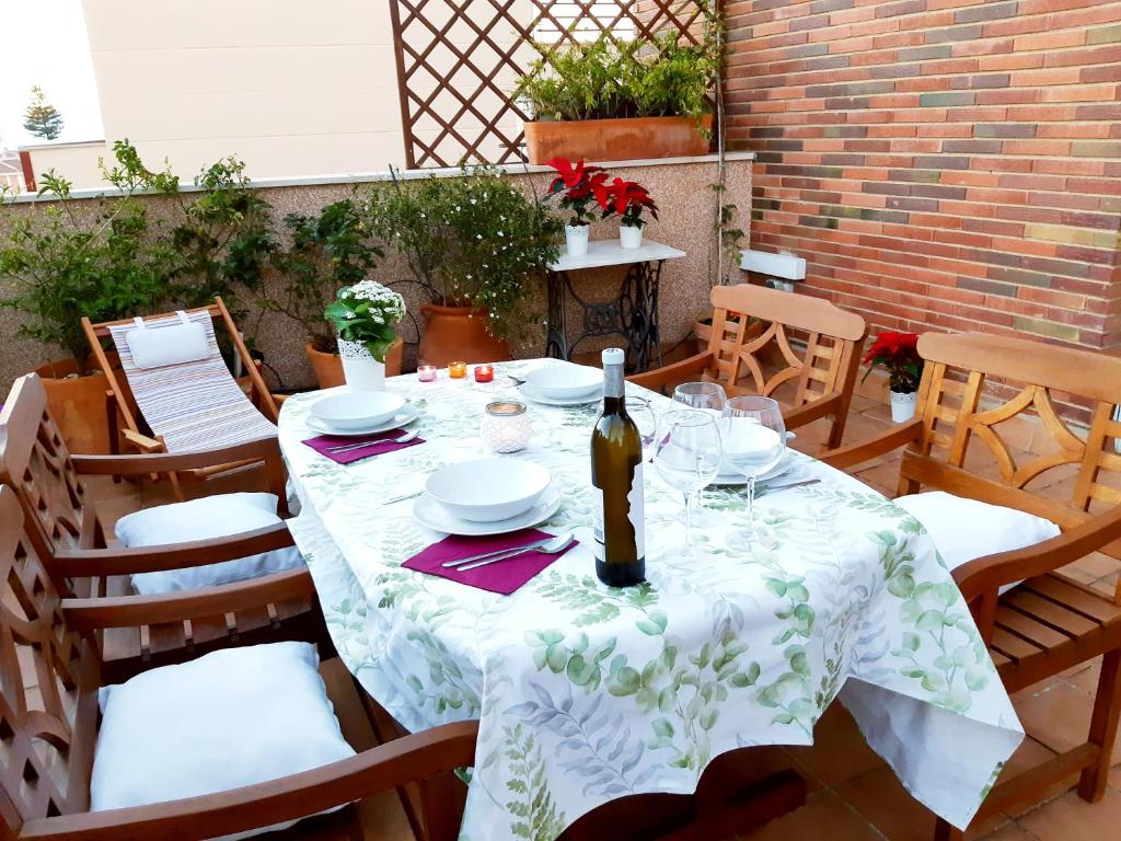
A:
<svg viewBox="0 0 1121 841">
<path fill-rule="evenodd" d="M 702 129 L 712 131 L 712 114 L 701 118 L 700 128 L 689 117 L 527 122 L 526 148 L 530 164 L 556 157 L 634 160 L 705 155 L 710 141 Z"/>
</svg>

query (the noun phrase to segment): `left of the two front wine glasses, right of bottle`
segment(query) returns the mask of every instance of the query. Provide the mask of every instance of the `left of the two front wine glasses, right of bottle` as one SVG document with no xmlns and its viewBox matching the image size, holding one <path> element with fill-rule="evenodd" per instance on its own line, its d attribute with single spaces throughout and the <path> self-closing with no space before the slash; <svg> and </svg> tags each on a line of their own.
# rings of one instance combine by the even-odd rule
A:
<svg viewBox="0 0 1121 841">
<path fill-rule="evenodd" d="M 693 553 L 693 500 L 720 472 L 720 427 L 707 412 L 669 412 L 658 423 L 654 465 L 685 498 L 685 554 Z"/>
</svg>

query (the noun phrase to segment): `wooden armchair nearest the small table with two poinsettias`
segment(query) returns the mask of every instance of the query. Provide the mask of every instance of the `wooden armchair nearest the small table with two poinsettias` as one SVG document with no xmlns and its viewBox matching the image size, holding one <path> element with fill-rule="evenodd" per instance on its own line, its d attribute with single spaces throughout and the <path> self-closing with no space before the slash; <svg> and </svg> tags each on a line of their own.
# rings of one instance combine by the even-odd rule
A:
<svg viewBox="0 0 1121 841">
<path fill-rule="evenodd" d="M 671 394 L 675 386 L 703 378 L 720 382 L 729 397 L 775 397 L 786 386 L 793 389 L 780 399 L 787 428 L 830 417 L 827 446 L 840 446 L 868 334 L 864 320 L 821 298 L 751 284 L 713 287 L 712 306 L 704 353 L 630 381 Z M 768 367 L 778 370 L 767 376 Z"/>
</svg>

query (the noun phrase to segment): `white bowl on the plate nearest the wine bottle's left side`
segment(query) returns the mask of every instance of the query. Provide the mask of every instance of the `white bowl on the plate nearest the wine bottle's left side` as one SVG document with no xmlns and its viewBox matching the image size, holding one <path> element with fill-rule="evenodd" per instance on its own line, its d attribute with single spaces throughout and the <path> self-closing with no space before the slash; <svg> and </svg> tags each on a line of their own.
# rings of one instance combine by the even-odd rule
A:
<svg viewBox="0 0 1121 841">
<path fill-rule="evenodd" d="M 549 471 L 534 462 L 475 459 L 437 470 L 425 490 L 455 517 L 494 523 L 528 511 L 552 481 Z"/>
</svg>

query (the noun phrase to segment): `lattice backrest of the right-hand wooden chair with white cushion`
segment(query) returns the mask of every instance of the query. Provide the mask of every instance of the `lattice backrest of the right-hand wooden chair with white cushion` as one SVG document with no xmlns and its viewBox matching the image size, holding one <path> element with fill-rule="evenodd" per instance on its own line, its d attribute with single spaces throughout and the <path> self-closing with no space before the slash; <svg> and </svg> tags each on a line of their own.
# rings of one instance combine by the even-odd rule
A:
<svg viewBox="0 0 1121 841">
<path fill-rule="evenodd" d="M 1121 503 L 1121 455 L 1113 446 L 1121 437 L 1121 423 L 1113 419 L 1121 359 L 978 333 L 926 333 L 918 350 L 925 360 L 923 437 L 904 459 L 900 493 L 941 488 L 1030 510 L 1063 527 L 1083 521 L 1095 502 Z M 1000 401 L 985 399 L 986 389 Z M 1088 410 L 1088 428 L 1064 419 L 1057 400 Z M 1015 427 L 1023 416 L 1034 416 L 1031 455 L 1018 460 L 1016 451 L 1027 447 L 1009 443 L 1010 427 L 1002 425 Z M 1018 429 L 1021 440 L 1026 428 Z M 1045 499 L 1028 488 L 1056 470 L 1072 483 L 1065 499 Z"/>
</svg>

